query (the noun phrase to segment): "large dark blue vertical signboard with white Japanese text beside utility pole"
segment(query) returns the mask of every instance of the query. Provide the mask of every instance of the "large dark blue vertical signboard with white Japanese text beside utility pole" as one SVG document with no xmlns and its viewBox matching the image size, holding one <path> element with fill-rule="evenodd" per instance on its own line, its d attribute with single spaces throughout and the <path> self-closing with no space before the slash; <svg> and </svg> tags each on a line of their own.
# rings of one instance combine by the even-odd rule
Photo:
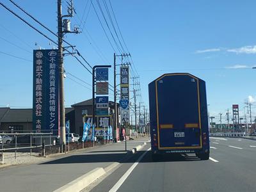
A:
<svg viewBox="0 0 256 192">
<path fill-rule="evenodd" d="M 59 135 L 58 51 L 33 51 L 33 130 Z"/>
</svg>

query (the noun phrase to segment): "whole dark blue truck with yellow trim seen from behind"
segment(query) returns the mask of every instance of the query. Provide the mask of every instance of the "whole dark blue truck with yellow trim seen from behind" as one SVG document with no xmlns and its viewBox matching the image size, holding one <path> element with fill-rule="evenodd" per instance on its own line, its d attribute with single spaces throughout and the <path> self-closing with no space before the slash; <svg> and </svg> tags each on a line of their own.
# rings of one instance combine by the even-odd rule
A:
<svg viewBox="0 0 256 192">
<path fill-rule="evenodd" d="M 163 74 L 148 84 L 152 159 L 195 153 L 209 159 L 205 81 L 188 73 Z"/>
</svg>

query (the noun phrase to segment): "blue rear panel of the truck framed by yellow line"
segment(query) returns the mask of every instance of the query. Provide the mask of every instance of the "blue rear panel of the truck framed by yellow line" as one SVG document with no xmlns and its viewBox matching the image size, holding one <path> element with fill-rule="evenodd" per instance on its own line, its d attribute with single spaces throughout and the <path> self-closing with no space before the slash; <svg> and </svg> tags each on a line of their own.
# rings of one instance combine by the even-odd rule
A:
<svg viewBox="0 0 256 192">
<path fill-rule="evenodd" d="M 198 79 L 166 74 L 156 80 L 159 149 L 202 148 Z"/>
</svg>

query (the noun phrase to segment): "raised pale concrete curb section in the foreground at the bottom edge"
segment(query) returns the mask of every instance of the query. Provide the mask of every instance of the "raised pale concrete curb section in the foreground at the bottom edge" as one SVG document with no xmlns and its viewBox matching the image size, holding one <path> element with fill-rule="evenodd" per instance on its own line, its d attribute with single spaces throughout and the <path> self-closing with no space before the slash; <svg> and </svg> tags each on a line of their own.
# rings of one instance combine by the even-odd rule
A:
<svg viewBox="0 0 256 192">
<path fill-rule="evenodd" d="M 101 177 L 104 174 L 106 174 L 106 172 L 103 168 L 95 168 L 94 170 L 82 175 L 81 177 L 78 177 L 77 179 L 72 180 L 68 184 L 65 184 L 65 186 L 62 186 L 61 188 L 56 189 L 54 192 L 81 191 L 82 189 L 92 184 L 92 182 L 99 179 L 99 177 Z"/>
</svg>

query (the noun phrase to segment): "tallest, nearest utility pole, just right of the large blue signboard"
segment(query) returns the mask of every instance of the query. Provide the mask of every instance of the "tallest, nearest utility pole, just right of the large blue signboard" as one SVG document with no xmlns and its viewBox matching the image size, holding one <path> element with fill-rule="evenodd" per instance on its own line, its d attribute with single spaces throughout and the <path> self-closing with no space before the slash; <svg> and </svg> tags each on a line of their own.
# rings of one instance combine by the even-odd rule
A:
<svg viewBox="0 0 256 192">
<path fill-rule="evenodd" d="M 64 68 L 63 68 L 63 31 L 62 31 L 61 0 L 58 0 L 58 59 L 60 66 L 60 144 L 61 152 L 66 152 L 66 127 L 64 106 Z M 64 151 L 63 151 L 64 148 Z"/>
</svg>

